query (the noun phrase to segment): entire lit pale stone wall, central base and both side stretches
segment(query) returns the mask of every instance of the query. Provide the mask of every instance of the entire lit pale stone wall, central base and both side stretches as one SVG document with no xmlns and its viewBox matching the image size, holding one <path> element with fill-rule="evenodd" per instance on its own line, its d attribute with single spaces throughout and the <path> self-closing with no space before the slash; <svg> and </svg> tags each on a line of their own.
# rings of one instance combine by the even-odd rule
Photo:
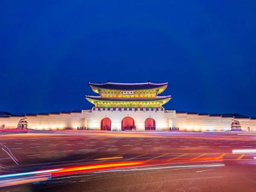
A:
<svg viewBox="0 0 256 192">
<path fill-rule="evenodd" d="M 63 130 L 67 128 L 87 127 L 90 130 L 100 130 L 101 120 L 104 117 L 111 119 L 111 130 L 121 131 L 122 119 L 130 116 L 134 119 L 137 130 L 145 130 L 145 119 L 151 117 L 156 122 L 156 130 L 169 130 L 169 127 L 178 127 L 180 131 L 229 131 L 231 119 L 176 113 L 169 111 L 92 111 L 82 110 L 81 113 L 26 116 L 28 128 L 35 130 Z M 17 128 L 23 117 L 0 118 L 0 127 L 5 124 L 6 129 Z M 236 119 L 242 130 L 256 131 L 256 120 Z"/>
</svg>

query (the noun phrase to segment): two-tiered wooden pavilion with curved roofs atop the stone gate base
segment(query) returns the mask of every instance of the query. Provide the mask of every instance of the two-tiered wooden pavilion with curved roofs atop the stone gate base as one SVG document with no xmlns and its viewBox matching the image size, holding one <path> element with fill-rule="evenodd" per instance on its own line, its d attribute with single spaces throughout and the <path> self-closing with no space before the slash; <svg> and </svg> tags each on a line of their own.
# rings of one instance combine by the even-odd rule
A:
<svg viewBox="0 0 256 192">
<path fill-rule="evenodd" d="M 96 108 L 161 108 L 171 96 L 157 96 L 168 83 L 89 83 L 99 96 L 85 96 Z"/>
</svg>

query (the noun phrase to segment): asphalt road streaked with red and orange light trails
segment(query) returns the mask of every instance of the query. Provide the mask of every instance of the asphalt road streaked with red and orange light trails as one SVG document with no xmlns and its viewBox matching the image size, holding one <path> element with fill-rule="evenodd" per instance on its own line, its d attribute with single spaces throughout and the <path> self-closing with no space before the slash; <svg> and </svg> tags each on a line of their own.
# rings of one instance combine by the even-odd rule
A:
<svg viewBox="0 0 256 192">
<path fill-rule="evenodd" d="M 0 148 L 0 175 L 49 166 L 130 161 L 158 163 L 126 171 L 61 176 L 45 182 L 0 188 L 0 191 L 254 192 L 256 189 L 256 154 L 232 153 L 234 149 L 256 149 L 254 136 L 123 132 L 15 134 L 1 135 L 0 144 L 5 149 Z"/>
</svg>

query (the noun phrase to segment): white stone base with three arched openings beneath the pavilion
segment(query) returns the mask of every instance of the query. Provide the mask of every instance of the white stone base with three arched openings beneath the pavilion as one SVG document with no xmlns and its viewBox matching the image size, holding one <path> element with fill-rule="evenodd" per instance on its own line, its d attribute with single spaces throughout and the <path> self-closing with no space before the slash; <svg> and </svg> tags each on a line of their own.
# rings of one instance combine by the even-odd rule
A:
<svg viewBox="0 0 256 192">
<path fill-rule="evenodd" d="M 134 109 L 133 109 L 134 110 Z M 100 130 L 101 120 L 111 119 L 111 130 L 122 130 L 122 119 L 130 116 L 134 119 L 136 130 L 145 130 L 145 119 L 151 117 L 156 122 L 156 130 L 169 130 L 169 119 L 164 111 L 92 111 L 88 113 L 88 129 Z"/>
</svg>

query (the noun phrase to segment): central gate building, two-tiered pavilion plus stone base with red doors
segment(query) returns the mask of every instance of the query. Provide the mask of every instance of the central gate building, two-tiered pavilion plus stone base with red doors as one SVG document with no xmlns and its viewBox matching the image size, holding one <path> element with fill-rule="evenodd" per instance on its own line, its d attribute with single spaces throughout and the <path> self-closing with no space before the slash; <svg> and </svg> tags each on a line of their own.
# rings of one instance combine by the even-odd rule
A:
<svg viewBox="0 0 256 192">
<path fill-rule="evenodd" d="M 158 96 L 168 83 L 89 83 L 99 96 L 85 96 L 94 104 L 88 129 L 168 130 L 162 105 L 172 96 Z"/>
</svg>

